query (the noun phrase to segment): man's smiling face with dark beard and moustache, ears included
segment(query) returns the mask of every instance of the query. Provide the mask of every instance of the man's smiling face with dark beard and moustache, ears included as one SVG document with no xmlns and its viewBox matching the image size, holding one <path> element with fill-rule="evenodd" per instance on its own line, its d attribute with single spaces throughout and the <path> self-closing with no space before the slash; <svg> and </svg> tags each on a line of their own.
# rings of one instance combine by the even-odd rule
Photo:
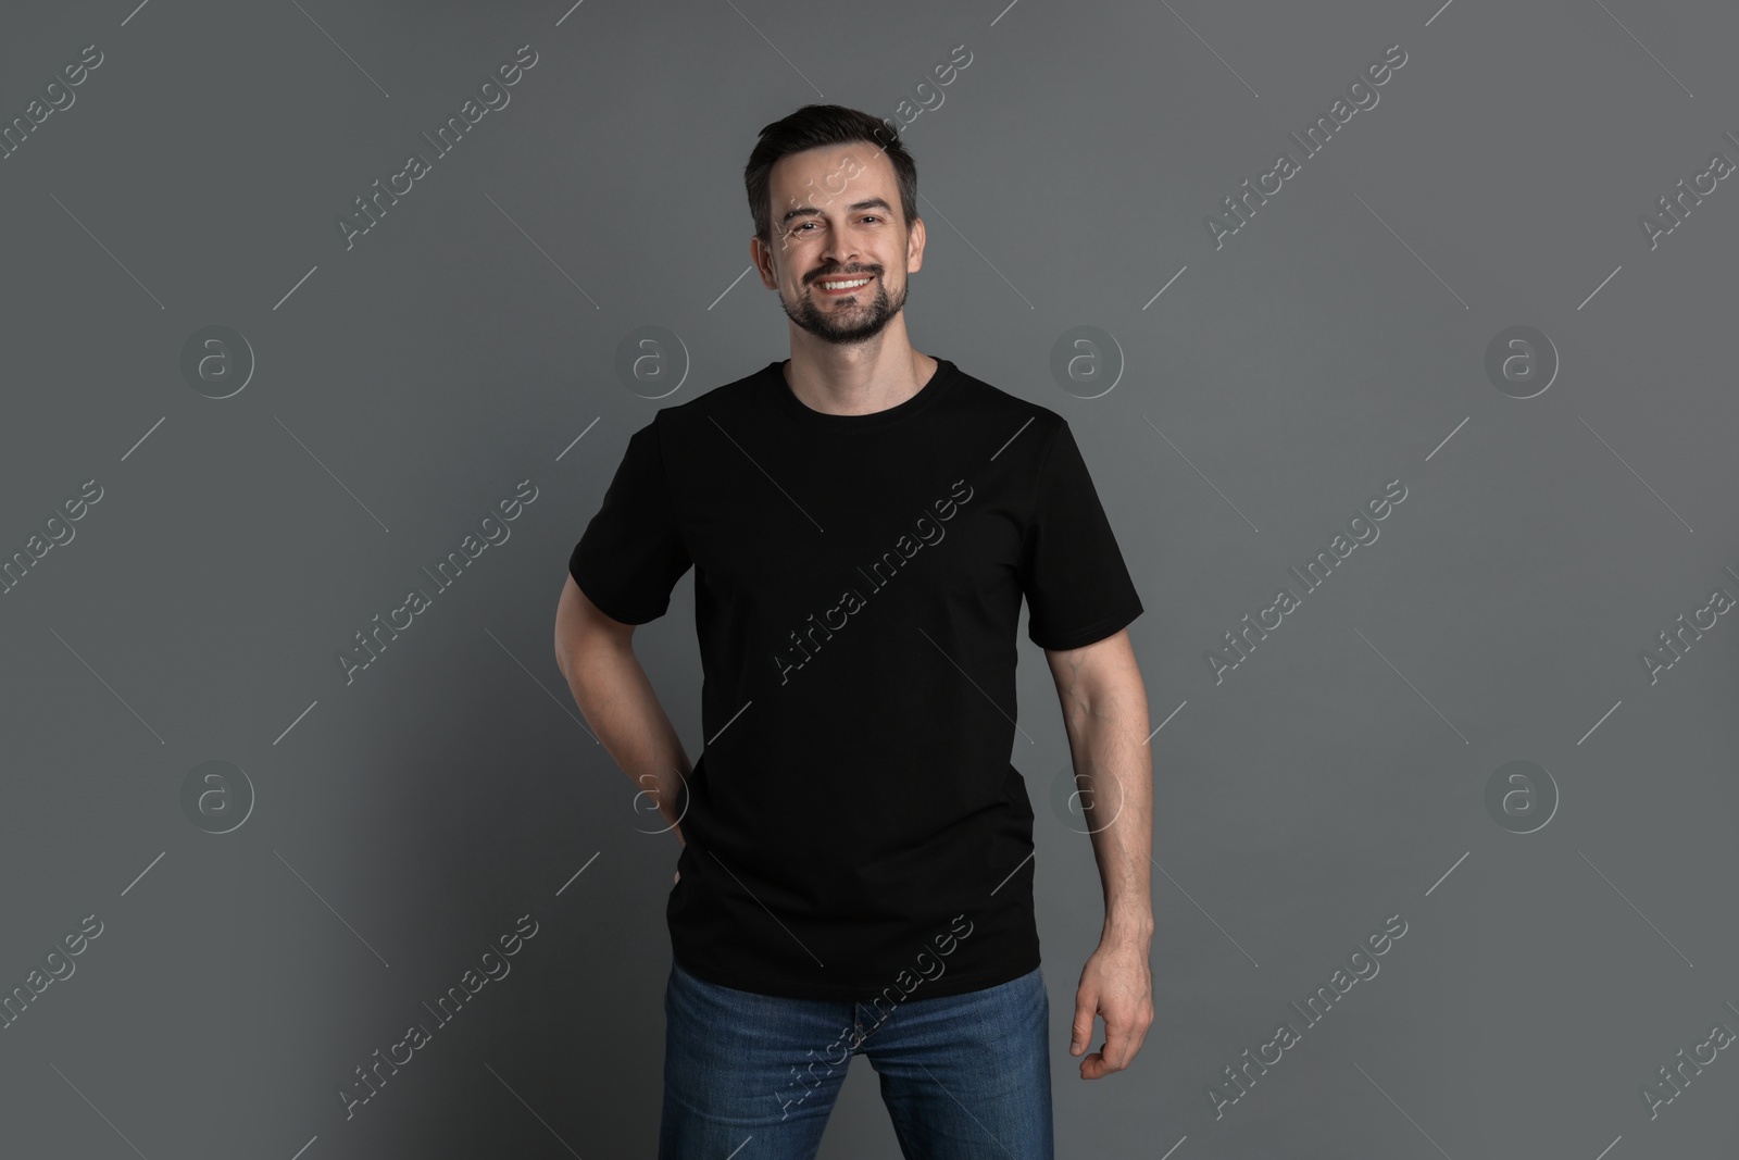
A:
<svg viewBox="0 0 1739 1160">
<path fill-rule="evenodd" d="M 828 343 L 880 334 L 923 264 L 923 223 L 906 231 L 894 163 L 854 141 L 781 157 L 769 184 L 772 247 L 756 240 L 756 264 L 786 317 Z"/>
</svg>

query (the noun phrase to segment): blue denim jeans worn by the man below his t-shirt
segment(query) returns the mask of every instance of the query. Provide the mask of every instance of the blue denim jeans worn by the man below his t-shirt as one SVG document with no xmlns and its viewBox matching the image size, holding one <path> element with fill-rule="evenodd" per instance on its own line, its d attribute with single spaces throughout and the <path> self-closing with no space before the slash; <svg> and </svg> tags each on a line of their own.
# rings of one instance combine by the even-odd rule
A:
<svg viewBox="0 0 1739 1160">
<path fill-rule="evenodd" d="M 1052 1160 L 1049 1030 L 1036 967 L 965 995 L 908 998 L 883 1017 L 849 1000 L 718 986 L 671 963 L 657 1155 L 810 1160 L 852 1056 L 864 1054 L 906 1160 Z"/>
</svg>

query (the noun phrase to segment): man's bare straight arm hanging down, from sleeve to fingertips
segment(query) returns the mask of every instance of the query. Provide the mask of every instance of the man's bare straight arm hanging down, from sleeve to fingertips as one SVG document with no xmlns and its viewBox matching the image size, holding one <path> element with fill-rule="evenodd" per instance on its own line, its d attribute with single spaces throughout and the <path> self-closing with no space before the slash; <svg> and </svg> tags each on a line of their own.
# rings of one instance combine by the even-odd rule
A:
<svg viewBox="0 0 1739 1160">
<path fill-rule="evenodd" d="M 1148 690 L 1118 631 L 1082 649 L 1045 649 L 1063 704 L 1069 755 L 1083 793 L 1083 817 L 1104 887 L 1104 929 L 1075 995 L 1071 1054 L 1092 1043 L 1094 1014 L 1104 1019 L 1104 1045 L 1082 1059 L 1082 1078 L 1122 1071 L 1141 1050 L 1153 1023 L 1153 750 L 1148 744 Z"/>
</svg>

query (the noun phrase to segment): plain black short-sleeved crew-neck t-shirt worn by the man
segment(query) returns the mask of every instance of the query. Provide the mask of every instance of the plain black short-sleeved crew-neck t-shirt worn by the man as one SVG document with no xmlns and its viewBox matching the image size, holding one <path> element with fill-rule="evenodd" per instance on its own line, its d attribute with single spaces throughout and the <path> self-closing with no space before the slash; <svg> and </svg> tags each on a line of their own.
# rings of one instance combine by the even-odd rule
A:
<svg viewBox="0 0 1739 1160">
<path fill-rule="evenodd" d="M 676 962 L 866 1002 L 1036 967 L 1021 597 L 1042 649 L 1143 612 L 1063 416 L 946 358 L 896 407 L 824 414 L 767 363 L 635 431 L 569 572 L 643 624 L 690 565 L 704 751 Z"/>
</svg>

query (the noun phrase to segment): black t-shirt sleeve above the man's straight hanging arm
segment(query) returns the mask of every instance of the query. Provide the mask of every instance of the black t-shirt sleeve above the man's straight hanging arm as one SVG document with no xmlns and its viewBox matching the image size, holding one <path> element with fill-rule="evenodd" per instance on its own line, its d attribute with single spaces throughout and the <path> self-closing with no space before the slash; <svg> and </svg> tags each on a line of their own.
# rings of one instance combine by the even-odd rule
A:
<svg viewBox="0 0 1739 1160">
<path fill-rule="evenodd" d="M 1021 550 L 1021 588 L 1028 607 L 1026 635 L 1040 649 L 1090 645 L 1143 612 L 1066 421 L 1050 437 L 1038 466 L 1033 515 Z"/>
</svg>

